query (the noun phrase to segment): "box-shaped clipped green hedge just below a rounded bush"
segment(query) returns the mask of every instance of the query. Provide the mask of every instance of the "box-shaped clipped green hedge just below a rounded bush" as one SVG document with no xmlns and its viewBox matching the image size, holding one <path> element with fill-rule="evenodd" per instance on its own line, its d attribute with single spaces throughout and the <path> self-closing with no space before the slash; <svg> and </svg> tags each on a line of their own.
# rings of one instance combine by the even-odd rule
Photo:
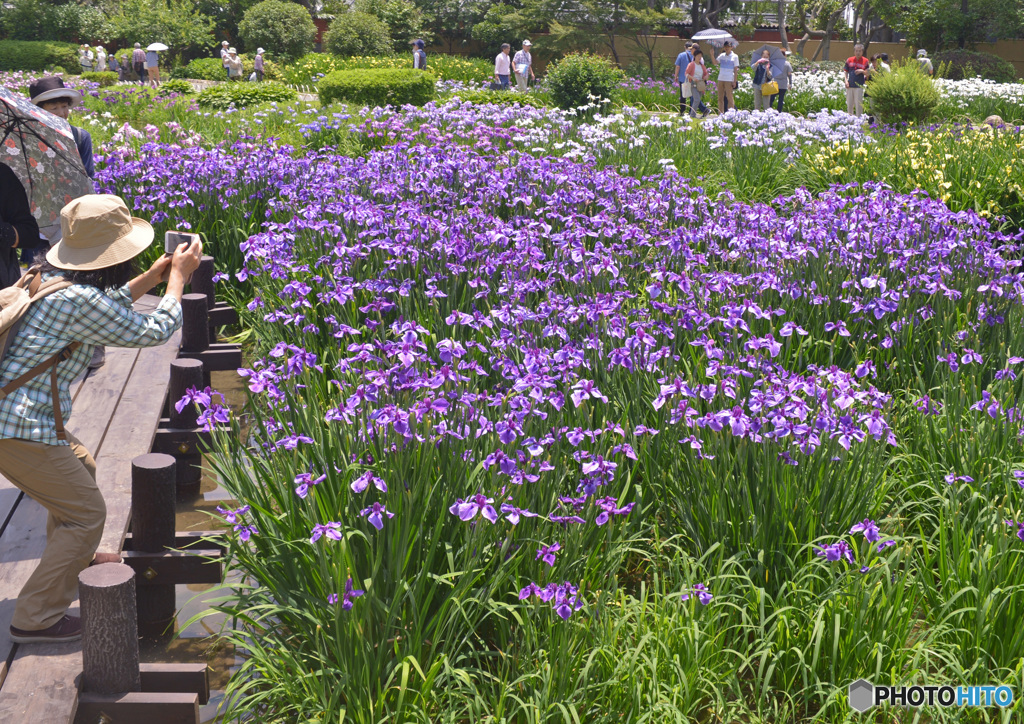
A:
<svg viewBox="0 0 1024 724">
<path fill-rule="evenodd" d="M 423 105 L 436 91 L 433 74 L 409 70 L 335 71 L 316 84 L 321 103 L 344 100 L 360 105 Z"/>
</svg>

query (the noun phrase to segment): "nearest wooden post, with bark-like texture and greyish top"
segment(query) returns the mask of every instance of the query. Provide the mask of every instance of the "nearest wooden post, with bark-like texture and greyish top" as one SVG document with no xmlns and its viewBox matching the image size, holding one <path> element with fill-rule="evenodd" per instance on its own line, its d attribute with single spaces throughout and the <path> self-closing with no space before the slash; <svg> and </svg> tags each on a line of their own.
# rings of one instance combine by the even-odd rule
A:
<svg viewBox="0 0 1024 724">
<path fill-rule="evenodd" d="M 78 574 L 82 604 L 82 684 L 86 691 L 140 691 L 135 571 L 124 563 Z"/>
</svg>

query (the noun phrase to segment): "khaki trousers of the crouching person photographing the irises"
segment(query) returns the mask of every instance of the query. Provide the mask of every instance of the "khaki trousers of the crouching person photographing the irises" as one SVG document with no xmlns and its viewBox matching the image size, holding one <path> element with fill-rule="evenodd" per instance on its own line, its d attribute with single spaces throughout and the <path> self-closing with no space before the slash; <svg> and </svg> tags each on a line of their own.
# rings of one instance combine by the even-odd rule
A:
<svg viewBox="0 0 1024 724">
<path fill-rule="evenodd" d="M 46 508 L 46 550 L 17 596 L 11 626 L 39 631 L 60 621 L 78 597 L 78 574 L 99 547 L 106 520 L 96 463 L 79 440 L 70 445 L 0 439 L 0 473 Z"/>
</svg>

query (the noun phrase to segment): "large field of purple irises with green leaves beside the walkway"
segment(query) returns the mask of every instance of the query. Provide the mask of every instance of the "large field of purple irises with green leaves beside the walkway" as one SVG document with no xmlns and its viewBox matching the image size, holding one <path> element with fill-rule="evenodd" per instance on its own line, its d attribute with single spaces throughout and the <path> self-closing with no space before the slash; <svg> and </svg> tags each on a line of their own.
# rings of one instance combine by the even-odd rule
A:
<svg viewBox="0 0 1024 724">
<path fill-rule="evenodd" d="M 228 719 L 1020 717 L 1020 129 L 103 102 L 246 330 Z"/>
</svg>

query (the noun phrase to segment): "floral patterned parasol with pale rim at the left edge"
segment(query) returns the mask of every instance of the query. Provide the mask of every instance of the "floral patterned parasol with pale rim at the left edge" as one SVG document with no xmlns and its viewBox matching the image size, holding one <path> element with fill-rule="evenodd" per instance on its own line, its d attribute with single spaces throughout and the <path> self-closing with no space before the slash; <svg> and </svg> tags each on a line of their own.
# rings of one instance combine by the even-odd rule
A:
<svg viewBox="0 0 1024 724">
<path fill-rule="evenodd" d="M 60 220 L 60 209 L 93 193 L 71 125 L 0 88 L 0 163 L 11 167 L 40 226 Z"/>
</svg>

